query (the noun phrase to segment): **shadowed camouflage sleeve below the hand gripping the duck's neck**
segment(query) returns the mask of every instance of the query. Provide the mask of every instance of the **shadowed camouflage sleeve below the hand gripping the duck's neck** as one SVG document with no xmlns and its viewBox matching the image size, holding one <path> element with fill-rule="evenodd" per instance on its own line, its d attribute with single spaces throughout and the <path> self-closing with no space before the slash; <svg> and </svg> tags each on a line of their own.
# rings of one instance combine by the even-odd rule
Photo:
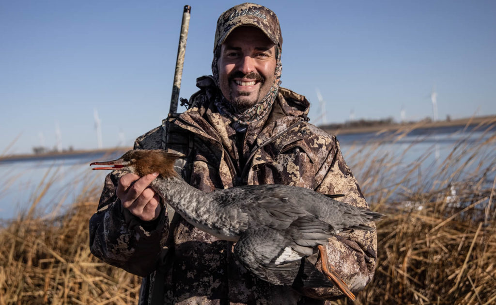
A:
<svg viewBox="0 0 496 305">
<path fill-rule="evenodd" d="M 165 245 L 169 229 L 167 213 L 162 205 L 155 221 L 143 222 L 132 215 L 116 196 L 122 175 L 122 171 L 113 171 L 105 178 L 98 210 L 90 219 L 90 249 L 104 262 L 145 277 L 156 269 Z"/>
</svg>

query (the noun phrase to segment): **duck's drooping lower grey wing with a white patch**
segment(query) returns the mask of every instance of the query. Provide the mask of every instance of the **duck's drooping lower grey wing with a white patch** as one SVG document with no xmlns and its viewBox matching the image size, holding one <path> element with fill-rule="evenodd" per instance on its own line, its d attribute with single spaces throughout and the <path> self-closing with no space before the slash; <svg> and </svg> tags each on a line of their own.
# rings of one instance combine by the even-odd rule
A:
<svg viewBox="0 0 496 305">
<path fill-rule="evenodd" d="M 289 231 L 294 233 L 295 230 Z M 248 270 L 272 284 L 332 287 L 333 283 L 306 258 L 313 252 L 309 244 L 315 241 L 302 239 L 300 243 L 296 243 L 288 235 L 288 230 L 252 228 L 238 240 L 234 253 Z"/>
</svg>

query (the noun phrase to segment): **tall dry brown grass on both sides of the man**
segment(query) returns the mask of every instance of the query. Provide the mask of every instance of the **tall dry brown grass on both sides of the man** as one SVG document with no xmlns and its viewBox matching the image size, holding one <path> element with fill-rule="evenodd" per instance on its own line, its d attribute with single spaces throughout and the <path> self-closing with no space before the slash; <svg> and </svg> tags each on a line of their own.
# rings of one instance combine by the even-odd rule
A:
<svg viewBox="0 0 496 305">
<path fill-rule="evenodd" d="M 421 164 L 434 147 L 409 164 L 402 164 L 401 154 L 383 150 L 407 130 L 349 150 L 345 158 L 372 209 L 386 214 L 377 224 L 375 277 L 355 304 L 496 303 L 492 124 L 478 126 L 483 136 L 462 138 L 427 169 Z M 65 213 L 47 218 L 35 213 L 41 190 L 29 212 L 3 225 L 0 305 L 137 302 L 140 278 L 89 251 L 88 220 L 99 192 L 86 189 Z"/>
</svg>

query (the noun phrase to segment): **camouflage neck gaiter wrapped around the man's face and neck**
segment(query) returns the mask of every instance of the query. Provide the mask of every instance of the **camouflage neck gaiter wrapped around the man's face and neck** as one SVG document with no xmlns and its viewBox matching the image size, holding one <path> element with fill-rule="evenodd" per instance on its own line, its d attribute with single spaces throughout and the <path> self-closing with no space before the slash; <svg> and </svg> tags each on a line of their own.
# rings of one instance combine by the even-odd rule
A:
<svg viewBox="0 0 496 305">
<path fill-rule="evenodd" d="M 219 70 L 217 67 L 217 61 L 219 59 L 220 47 L 216 48 L 214 59 L 212 61 L 212 74 L 217 85 L 217 95 L 215 97 L 215 106 L 219 109 L 222 115 L 227 116 L 237 126 L 248 126 L 255 122 L 260 121 L 265 117 L 265 115 L 270 111 L 274 100 L 277 97 L 277 92 L 279 91 L 279 84 L 281 83 L 281 47 L 279 46 L 276 54 L 276 69 L 275 69 L 275 80 L 270 88 L 269 92 L 260 100 L 260 102 L 253 105 L 251 108 L 246 109 L 241 112 L 236 107 L 229 102 L 220 90 L 219 84 Z"/>
</svg>

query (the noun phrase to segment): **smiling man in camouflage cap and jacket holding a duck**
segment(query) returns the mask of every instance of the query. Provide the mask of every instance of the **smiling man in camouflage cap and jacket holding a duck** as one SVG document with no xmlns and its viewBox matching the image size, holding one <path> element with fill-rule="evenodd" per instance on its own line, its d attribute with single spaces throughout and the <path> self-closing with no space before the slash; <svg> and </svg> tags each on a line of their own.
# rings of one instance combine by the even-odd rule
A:
<svg viewBox="0 0 496 305">
<path fill-rule="evenodd" d="M 288 184 L 368 207 L 336 138 L 307 123 L 304 96 L 279 87 L 281 51 L 271 10 L 244 3 L 225 11 L 217 21 L 213 76 L 199 77 L 190 108 L 138 138 L 135 149 L 184 153 L 183 177 L 203 191 Z M 92 252 L 144 277 L 140 304 L 323 304 L 343 297 L 335 287 L 296 291 L 258 279 L 234 259 L 232 242 L 167 213 L 148 187 L 154 178 L 113 172 L 90 220 Z M 329 238 L 327 253 L 351 290 L 360 291 L 372 279 L 375 231 Z"/>
</svg>

